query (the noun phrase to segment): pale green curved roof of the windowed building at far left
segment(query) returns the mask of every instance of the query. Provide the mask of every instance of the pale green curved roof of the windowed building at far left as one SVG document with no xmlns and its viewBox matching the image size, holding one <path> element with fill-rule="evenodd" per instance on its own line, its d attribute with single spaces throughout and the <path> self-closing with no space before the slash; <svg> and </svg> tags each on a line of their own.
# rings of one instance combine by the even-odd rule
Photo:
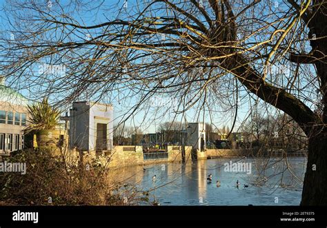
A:
<svg viewBox="0 0 327 228">
<path fill-rule="evenodd" d="M 0 85 L 0 101 L 8 102 L 12 105 L 28 105 L 28 99 L 25 96 L 6 85 Z"/>
</svg>

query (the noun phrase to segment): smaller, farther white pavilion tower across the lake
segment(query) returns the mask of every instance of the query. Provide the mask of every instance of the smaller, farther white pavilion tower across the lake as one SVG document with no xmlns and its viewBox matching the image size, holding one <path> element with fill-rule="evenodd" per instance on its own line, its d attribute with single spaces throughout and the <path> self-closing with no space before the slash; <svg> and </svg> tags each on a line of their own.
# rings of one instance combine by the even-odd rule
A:
<svg viewBox="0 0 327 228">
<path fill-rule="evenodd" d="M 188 123 L 187 145 L 204 152 L 206 149 L 206 125 L 204 123 Z"/>
</svg>

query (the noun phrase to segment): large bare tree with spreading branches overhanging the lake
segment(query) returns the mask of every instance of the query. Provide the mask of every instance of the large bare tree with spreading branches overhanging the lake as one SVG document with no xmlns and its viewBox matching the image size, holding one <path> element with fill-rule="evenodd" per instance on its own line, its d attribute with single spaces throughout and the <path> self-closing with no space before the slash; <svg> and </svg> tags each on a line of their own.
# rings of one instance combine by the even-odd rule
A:
<svg viewBox="0 0 327 228">
<path fill-rule="evenodd" d="M 0 70 L 61 105 L 83 96 L 133 98 L 124 118 L 166 97 L 178 101 L 170 107 L 176 114 L 230 110 L 233 129 L 239 105 L 258 98 L 308 137 L 301 205 L 327 205 L 326 0 L 142 0 L 128 7 L 8 1 Z M 111 16 L 86 24 L 86 10 Z M 49 66 L 64 73 L 46 75 Z"/>
</svg>

